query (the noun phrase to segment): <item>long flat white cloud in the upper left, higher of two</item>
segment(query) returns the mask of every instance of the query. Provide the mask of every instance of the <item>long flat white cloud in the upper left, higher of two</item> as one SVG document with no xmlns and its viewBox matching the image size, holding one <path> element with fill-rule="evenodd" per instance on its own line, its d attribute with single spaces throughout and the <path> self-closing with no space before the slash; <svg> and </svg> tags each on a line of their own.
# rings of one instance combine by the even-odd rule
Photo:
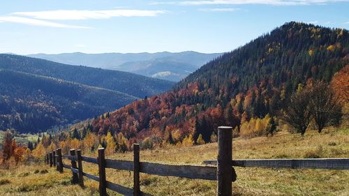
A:
<svg viewBox="0 0 349 196">
<path fill-rule="evenodd" d="M 34 17 L 41 20 L 89 20 L 111 17 L 155 17 L 164 10 L 50 10 L 38 12 L 16 12 L 12 15 Z"/>
</svg>

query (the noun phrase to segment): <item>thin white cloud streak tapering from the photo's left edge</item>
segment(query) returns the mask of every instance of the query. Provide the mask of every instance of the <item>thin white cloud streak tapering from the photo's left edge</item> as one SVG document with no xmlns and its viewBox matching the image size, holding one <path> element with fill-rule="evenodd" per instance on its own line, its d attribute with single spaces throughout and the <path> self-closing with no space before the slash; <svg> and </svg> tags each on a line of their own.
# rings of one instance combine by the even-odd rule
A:
<svg viewBox="0 0 349 196">
<path fill-rule="evenodd" d="M 16 17 L 16 16 L 3 16 L 0 17 L 0 22 L 13 22 L 19 24 L 27 24 L 32 26 L 40 27 L 55 27 L 55 28 L 75 28 L 75 29 L 88 29 L 89 27 L 73 26 L 68 24 L 60 24 L 56 22 L 47 22 L 44 20 L 36 20 L 27 17 Z"/>
</svg>

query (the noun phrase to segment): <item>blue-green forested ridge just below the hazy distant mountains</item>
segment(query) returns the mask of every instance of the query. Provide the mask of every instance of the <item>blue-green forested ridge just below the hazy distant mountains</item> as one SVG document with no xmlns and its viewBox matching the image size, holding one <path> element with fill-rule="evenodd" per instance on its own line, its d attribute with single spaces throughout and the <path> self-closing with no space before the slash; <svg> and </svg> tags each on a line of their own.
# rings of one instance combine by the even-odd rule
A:
<svg viewBox="0 0 349 196">
<path fill-rule="evenodd" d="M 167 91 L 174 84 L 165 80 L 157 80 L 117 70 L 70 66 L 43 59 L 10 54 L 0 54 L 0 68 L 101 87 L 138 98 Z"/>
</svg>

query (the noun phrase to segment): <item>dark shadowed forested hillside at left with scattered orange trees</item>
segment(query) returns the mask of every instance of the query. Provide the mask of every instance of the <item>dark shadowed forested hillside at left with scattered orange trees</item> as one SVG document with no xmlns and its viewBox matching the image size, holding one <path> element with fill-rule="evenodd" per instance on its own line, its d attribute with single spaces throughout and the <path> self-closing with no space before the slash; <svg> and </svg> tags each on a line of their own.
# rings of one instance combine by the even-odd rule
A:
<svg viewBox="0 0 349 196">
<path fill-rule="evenodd" d="M 115 110 L 135 99 L 109 89 L 0 70 L 0 130 L 37 133 Z"/>
</svg>

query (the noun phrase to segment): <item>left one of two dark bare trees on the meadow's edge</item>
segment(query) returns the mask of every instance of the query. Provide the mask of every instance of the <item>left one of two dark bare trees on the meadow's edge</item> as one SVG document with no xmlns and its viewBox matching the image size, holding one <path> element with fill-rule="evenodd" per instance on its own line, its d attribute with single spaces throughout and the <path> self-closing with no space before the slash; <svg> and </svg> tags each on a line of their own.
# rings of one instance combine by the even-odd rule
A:
<svg viewBox="0 0 349 196">
<path fill-rule="evenodd" d="M 295 128 L 302 136 L 311 121 L 311 93 L 302 89 L 290 98 L 288 107 L 281 114 L 281 120 Z"/>
</svg>

